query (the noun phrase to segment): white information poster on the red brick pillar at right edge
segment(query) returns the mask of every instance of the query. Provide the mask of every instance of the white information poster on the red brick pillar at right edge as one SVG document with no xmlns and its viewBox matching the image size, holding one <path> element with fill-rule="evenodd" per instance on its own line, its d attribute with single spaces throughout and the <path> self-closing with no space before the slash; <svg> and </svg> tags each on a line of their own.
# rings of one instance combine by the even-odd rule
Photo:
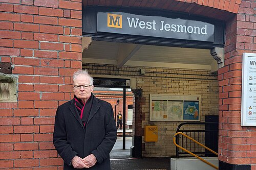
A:
<svg viewBox="0 0 256 170">
<path fill-rule="evenodd" d="M 241 126 L 256 126 L 256 54 L 243 54 Z"/>
</svg>

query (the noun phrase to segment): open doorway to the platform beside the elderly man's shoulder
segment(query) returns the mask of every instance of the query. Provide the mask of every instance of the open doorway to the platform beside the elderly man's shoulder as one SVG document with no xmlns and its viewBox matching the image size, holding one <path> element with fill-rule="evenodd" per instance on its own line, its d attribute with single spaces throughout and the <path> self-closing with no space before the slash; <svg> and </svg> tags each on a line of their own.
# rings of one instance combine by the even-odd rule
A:
<svg viewBox="0 0 256 170">
<path fill-rule="evenodd" d="M 95 87 L 94 95 L 96 98 L 109 102 L 114 111 L 115 123 L 117 126 L 117 141 L 110 153 L 110 159 L 131 158 L 130 149 L 132 146 L 132 117 L 133 117 L 133 93 L 131 89 L 125 89 L 125 98 L 123 100 L 122 88 Z M 125 103 L 124 103 L 125 102 Z M 125 105 L 125 106 L 123 106 Z M 123 108 L 126 114 L 123 115 Z M 124 117 L 125 116 L 125 117 Z M 124 124 L 123 124 L 124 119 Z M 123 136 L 125 129 L 125 136 Z M 125 145 L 123 145 L 123 143 Z"/>
</svg>

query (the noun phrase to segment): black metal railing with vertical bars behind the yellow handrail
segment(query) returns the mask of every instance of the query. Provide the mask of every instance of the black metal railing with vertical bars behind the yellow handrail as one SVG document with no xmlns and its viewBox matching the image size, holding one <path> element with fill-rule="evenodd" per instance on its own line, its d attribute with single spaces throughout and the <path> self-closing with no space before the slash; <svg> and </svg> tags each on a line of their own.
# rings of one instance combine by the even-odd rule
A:
<svg viewBox="0 0 256 170">
<path fill-rule="evenodd" d="M 205 128 L 207 126 L 207 128 Z M 187 136 L 197 140 L 198 142 L 206 145 L 218 152 L 218 123 L 217 122 L 186 122 L 178 126 L 176 133 L 182 132 Z M 201 145 L 191 142 L 186 137 L 178 134 L 176 137 L 176 143 L 182 148 L 200 156 L 214 156 L 211 152 L 206 150 Z M 176 158 L 185 156 L 188 153 L 184 150 L 176 147 Z"/>
</svg>

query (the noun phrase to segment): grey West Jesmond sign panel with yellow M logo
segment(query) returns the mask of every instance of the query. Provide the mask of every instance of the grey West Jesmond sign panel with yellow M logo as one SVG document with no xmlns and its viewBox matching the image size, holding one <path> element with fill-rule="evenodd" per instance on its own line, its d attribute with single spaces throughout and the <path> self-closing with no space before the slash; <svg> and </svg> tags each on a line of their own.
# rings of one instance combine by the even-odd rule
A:
<svg viewBox="0 0 256 170">
<path fill-rule="evenodd" d="M 215 25 L 181 18 L 98 12 L 97 32 L 214 42 Z"/>
</svg>

